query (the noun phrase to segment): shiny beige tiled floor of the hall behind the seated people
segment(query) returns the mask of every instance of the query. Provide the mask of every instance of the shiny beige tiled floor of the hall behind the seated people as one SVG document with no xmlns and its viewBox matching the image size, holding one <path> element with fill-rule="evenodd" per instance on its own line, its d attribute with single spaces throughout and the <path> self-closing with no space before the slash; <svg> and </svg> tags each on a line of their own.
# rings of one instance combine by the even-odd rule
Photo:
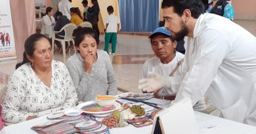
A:
<svg viewBox="0 0 256 134">
<path fill-rule="evenodd" d="M 256 36 L 255 20 L 235 20 L 235 22 Z M 104 35 L 100 35 L 100 41 L 102 42 L 98 48 L 104 49 Z M 117 42 L 119 43 L 116 47 L 116 56 L 110 55 L 110 58 L 116 72 L 119 91 L 139 93 L 138 81 L 142 78 L 142 65 L 146 59 L 154 56 L 150 41 L 144 35 L 118 35 Z M 74 50 L 66 56 L 70 57 L 72 54 Z M 63 61 L 62 55 L 58 52 L 54 52 L 54 59 Z M 7 79 L 14 72 L 15 65 L 16 60 L 0 61 L 0 84 L 7 84 Z"/>
</svg>

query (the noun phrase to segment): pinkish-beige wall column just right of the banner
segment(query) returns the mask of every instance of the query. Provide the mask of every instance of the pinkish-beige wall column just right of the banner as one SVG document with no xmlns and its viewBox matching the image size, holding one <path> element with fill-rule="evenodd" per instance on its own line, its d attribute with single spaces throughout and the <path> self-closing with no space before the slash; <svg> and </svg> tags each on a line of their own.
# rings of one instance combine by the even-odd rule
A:
<svg viewBox="0 0 256 134">
<path fill-rule="evenodd" d="M 10 0 L 10 5 L 16 56 L 20 62 L 23 59 L 24 42 L 35 33 L 35 3 L 27 0 Z"/>
</svg>

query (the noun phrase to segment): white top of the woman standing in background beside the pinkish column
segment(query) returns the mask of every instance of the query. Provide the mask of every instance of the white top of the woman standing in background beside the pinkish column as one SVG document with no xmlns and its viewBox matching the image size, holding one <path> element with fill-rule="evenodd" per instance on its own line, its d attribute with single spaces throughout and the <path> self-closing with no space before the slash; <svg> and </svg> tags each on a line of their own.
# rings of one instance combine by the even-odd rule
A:
<svg viewBox="0 0 256 134">
<path fill-rule="evenodd" d="M 49 38 L 52 38 L 53 37 L 53 25 L 52 25 L 53 23 L 55 23 L 53 16 L 51 16 L 51 19 L 49 18 L 48 15 L 43 16 L 41 34 L 49 35 Z"/>
</svg>

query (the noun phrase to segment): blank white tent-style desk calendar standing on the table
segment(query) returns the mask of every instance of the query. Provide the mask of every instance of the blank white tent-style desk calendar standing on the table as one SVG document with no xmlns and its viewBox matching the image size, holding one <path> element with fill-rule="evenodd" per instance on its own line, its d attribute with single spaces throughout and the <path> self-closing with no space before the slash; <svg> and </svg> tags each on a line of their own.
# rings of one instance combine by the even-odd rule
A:
<svg viewBox="0 0 256 134">
<path fill-rule="evenodd" d="M 189 98 L 161 110 L 154 117 L 152 134 L 198 134 L 194 110 Z"/>
</svg>

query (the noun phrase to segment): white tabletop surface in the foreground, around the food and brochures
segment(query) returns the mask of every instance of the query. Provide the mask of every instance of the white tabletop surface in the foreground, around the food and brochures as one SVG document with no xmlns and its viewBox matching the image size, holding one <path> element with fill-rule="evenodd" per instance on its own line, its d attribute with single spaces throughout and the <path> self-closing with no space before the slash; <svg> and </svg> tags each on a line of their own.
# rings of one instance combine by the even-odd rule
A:
<svg viewBox="0 0 256 134">
<path fill-rule="evenodd" d="M 211 116 L 209 114 L 203 114 L 202 112 L 196 112 L 196 121 L 198 124 L 198 129 L 200 134 L 255 134 L 256 127 L 249 126 L 246 124 L 241 124 L 239 122 L 233 122 L 231 120 L 226 120 L 223 118 L 219 118 L 216 116 Z M 19 124 L 14 124 L 11 126 L 4 127 L 0 134 L 7 133 L 7 134 L 16 134 L 16 133 L 26 133 L 26 134 L 33 134 L 36 133 L 30 127 L 35 126 L 37 124 L 41 124 L 43 122 L 48 122 L 47 116 L 42 116 L 40 118 L 36 118 L 33 120 L 29 120 L 26 122 L 21 122 Z M 171 121 L 170 121 L 171 122 Z M 177 121 L 175 121 L 177 122 Z M 170 126 L 171 127 L 171 126 Z M 146 127 L 134 127 L 129 125 L 123 128 L 114 128 L 110 129 L 110 133 L 129 133 L 129 134 L 149 134 L 151 133 L 152 125 Z"/>
</svg>

